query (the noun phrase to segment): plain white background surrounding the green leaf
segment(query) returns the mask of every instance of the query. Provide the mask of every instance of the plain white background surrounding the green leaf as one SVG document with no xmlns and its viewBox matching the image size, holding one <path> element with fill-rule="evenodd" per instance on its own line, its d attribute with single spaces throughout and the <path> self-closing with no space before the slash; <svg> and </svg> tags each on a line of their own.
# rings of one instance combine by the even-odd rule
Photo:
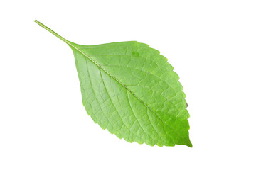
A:
<svg viewBox="0 0 256 170">
<path fill-rule="evenodd" d="M 255 1 L 1 1 L 0 169 L 256 169 Z M 137 40 L 181 77 L 186 146 L 119 140 L 82 106 L 73 52 Z"/>
</svg>

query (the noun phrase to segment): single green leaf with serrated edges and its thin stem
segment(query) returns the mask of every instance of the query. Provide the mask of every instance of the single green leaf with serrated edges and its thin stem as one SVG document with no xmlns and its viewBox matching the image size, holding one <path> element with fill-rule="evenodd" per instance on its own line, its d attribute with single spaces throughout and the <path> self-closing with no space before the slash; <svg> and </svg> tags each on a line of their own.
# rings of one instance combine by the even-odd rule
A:
<svg viewBox="0 0 256 170">
<path fill-rule="evenodd" d="M 186 95 L 166 57 L 136 41 L 78 45 L 75 55 L 82 103 L 103 129 L 128 142 L 192 147 Z"/>
</svg>

